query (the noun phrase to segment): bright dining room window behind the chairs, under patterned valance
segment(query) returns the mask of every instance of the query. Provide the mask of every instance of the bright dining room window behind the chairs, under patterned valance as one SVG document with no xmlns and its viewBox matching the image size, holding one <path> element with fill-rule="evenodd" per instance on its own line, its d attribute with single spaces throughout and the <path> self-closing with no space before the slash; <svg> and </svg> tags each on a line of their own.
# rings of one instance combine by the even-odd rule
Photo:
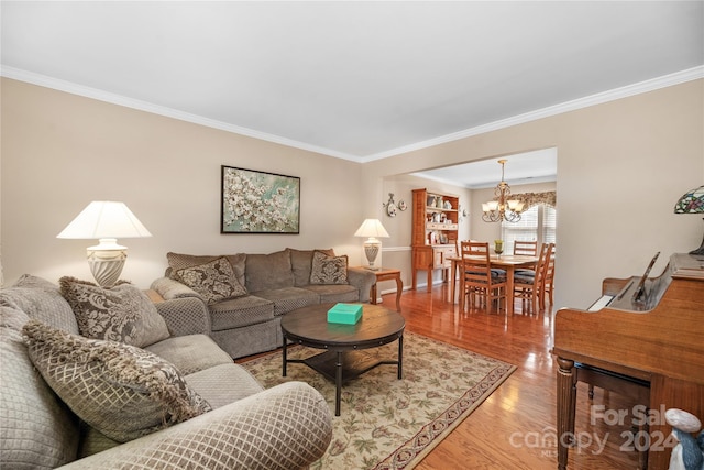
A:
<svg viewBox="0 0 704 470">
<path fill-rule="evenodd" d="M 514 240 L 538 240 L 556 243 L 557 210 L 546 204 L 538 204 L 520 215 L 518 222 L 502 222 L 502 240 L 505 253 L 514 252 Z"/>
</svg>

